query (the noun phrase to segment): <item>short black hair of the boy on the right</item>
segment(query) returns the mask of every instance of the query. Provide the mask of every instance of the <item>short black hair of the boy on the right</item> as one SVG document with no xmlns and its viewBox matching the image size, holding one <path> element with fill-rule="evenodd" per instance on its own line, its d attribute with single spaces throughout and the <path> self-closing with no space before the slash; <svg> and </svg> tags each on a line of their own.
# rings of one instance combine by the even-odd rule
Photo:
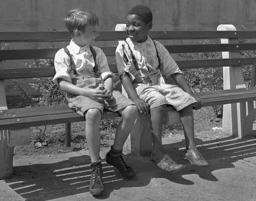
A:
<svg viewBox="0 0 256 201">
<path fill-rule="evenodd" d="M 145 24 L 153 21 L 152 11 L 150 8 L 144 5 L 136 5 L 127 13 L 127 15 L 138 15 L 140 16 Z"/>
</svg>

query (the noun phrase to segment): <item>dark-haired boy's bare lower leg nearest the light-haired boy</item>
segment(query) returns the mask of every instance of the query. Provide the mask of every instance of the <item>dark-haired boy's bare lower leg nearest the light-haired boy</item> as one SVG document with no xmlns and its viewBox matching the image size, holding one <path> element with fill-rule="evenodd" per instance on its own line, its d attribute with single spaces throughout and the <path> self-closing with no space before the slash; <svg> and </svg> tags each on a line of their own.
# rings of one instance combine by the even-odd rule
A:
<svg viewBox="0 0 256 201">
<path fill-rule="evenodd" d="M 162 126 L 163 126 L 163 114 L 166 109 L 166 105 L 151 108 L 151 125 L 153 132 L 153 150 L 152 160 L 160 161 L 163 158 L 164 150 L 162 144 Z"/>
</svg>

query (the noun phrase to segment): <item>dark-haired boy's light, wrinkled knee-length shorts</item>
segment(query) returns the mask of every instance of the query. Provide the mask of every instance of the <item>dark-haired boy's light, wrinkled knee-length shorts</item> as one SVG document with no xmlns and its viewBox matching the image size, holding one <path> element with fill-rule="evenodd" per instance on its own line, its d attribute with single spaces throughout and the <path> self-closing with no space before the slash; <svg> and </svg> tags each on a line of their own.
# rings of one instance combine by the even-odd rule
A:
<svg viewBox="0 0 256 201">
<path fill-rule="evenodd" d="M 138 84 L 136 91 L 139 97 L 147 102 L 151 108 L 169 104 L 177 111 L 196 103 L 196 99 L 184 92 L 182 88 L 174 84 L 146 85 Z"/>
</svg>

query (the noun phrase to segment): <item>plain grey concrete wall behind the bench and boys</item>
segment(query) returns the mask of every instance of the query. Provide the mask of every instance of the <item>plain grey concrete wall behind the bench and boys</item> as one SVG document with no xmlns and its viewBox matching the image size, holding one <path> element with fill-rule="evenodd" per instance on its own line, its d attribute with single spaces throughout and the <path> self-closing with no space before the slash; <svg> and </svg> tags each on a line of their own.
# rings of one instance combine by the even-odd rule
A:
<svg viewBox="0 0 256 201">
<path fill-rule="evenodd" d="M 66 31 L 63 19 L 74 8 L 94 12 L 100 19 L 99 30 L 115 30 L 137 4 L 152 9 L 153 31 L 214 31 L 220 24 L 255 29 L 254 0 L 0 0 L 0 31 Z M 12 68 L 17 62 L 21 61 L 4 66 Z"/>
</svg>

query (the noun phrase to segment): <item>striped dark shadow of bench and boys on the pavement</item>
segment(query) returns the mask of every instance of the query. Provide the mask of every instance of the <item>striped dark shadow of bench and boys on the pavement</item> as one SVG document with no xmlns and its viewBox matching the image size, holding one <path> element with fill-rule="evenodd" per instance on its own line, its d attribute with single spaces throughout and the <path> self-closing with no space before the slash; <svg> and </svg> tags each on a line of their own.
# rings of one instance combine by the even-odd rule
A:
<svg viewBox="0 0 256 201">
<path fill-rule="evenodd" d="M 218 141 L 201 141 L 196 139 L 196 143 L 199 145 L 198 150 L 209 162 L 209 167 L 195 167 L 184 160 L 184 150 L 181 148 L 184 147 L 184 141 L 164 145 L 166 152 L 178 164 L 185 166 L 176 173 L 160 170 L 150 160 L 150 156 L 134 157 L 133 154 L 126 154 L 123 156 L 124 160 L 135 169 L 137 176 L 124 180 L 117 176 L 115 169 L 103 160 L 105 191 L 95 197 L 106 199 L 114 190 L 144 187 L 151 183 L 152 178 L 165 178 L 177 184 L 194 185 L 194 182 L 183 176 L 198 174 L 203 180 L 217 182 L 218 179 L 212 172 L 224 168 L 234 168 L 234 162 L 256 156 L 256 138 L 253 137 L 247 140 L 226 138 Z M 51 200 L 88 193 L 90 177 L 90 157 L 82 153 L 81 156 L 71 157 L 57 163 L 15 166 L 14 176 L 7 179 L 6 183 L 26 200 Z"/>
</svg>

